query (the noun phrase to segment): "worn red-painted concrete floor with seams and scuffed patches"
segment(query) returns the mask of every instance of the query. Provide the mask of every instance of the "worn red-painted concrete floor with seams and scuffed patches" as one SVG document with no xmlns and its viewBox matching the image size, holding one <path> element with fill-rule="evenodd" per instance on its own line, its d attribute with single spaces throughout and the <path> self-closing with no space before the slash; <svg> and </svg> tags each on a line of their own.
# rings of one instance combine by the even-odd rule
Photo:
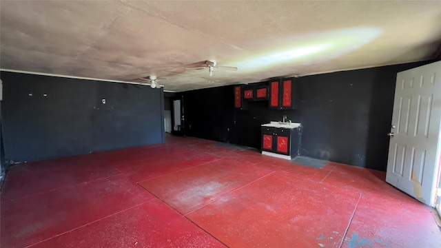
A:
<svg viewBox="0 0 441 248">
<path fill-rule="evenodd" d="M 441 247 L 384 172 L 296 165 L 214 141 L 14 165 L 1 247 Z"/>
</svg>

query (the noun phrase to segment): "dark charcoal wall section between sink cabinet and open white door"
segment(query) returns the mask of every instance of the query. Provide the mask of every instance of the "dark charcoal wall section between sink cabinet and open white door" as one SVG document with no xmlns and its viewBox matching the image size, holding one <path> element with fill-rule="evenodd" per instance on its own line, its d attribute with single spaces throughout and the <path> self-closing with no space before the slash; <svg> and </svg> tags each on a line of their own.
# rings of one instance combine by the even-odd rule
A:
<svg viewBox="0 0 441 248">
<path fill-rule="evenodd" d="M 300 78 L 300 154 L 385 170 L 396 74 L 421 64 Z"/>
</svg>

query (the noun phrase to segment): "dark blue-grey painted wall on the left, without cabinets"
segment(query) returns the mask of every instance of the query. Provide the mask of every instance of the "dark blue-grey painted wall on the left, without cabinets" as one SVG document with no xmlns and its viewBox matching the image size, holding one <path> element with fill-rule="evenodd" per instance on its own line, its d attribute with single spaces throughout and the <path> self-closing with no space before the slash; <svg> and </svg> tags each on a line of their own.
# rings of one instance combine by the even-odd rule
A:
<svg viewBox="0 0 441 248">
<path fill-rule="evenodd" d="M 37 161 L 163 142 L 162 89 L 14 72 L 1 72 L 1 80 L 6 159 Z"/>
</svg>

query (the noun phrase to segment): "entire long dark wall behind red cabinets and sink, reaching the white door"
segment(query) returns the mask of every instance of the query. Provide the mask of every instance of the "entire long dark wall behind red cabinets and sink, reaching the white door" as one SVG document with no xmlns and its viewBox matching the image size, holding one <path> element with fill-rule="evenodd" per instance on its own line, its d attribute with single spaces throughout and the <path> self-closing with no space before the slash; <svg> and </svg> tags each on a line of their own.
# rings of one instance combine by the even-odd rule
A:
<svg viewBox="0 0 441 248">
<path fill-rule="evenodd" d="M 430 62 L 301 77 L 298 110 L 235 110 L 232 86 L 183 92 L 187 134 L 260 149 L 260 125 L 286 114 L 302 123 L 300 155 L 385 170 L 396 74 Z"/>
</svg>

